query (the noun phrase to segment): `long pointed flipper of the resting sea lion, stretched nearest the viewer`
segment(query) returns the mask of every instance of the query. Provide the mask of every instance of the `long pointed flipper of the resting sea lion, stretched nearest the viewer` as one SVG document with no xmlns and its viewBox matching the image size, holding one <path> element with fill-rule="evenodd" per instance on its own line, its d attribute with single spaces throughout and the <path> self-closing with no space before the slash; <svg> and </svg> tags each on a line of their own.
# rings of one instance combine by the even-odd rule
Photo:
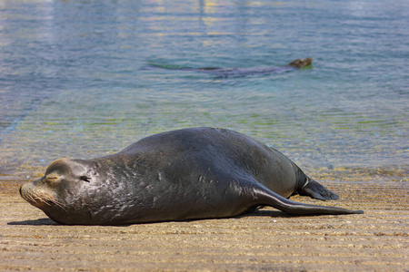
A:
<svg viewBox="0 0 409 272">
<path fill-rule="evenodd" d="M 259 206 L 271 206 L 291 215 L 339 215 L 364 213 L 362 210 L 326 207 L 295 202 L 290 199 L 285 199 L 274 191 L 265 188 L 263 185 L 254 188 L 254 197 L 257 199 L 256 201 L 258 202 Z"/>
</svg>

